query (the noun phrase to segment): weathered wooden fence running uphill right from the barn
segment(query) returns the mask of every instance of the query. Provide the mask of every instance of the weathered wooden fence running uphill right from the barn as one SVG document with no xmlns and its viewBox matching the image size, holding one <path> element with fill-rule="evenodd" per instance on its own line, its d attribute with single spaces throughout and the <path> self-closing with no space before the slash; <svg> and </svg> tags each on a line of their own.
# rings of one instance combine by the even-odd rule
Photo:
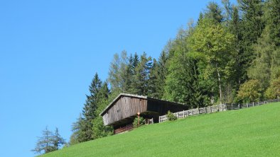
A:
<svg viewBox="0 0 280 157">
<path fill-rule="evenodd" d="M 259 106 L 259 105 L 265 105 L 267 103 L 272 103 L 272 102 L 279 102 L 280 99 L 274 99 L 274 100 L 266 100 L 262 102 L 257 102 L 257 103 L 246 103 L 246 104 L 236 104 L 236 103 L 231 103 L 231 104 L 222 104 L 222 105 L 213 105 L 213 106 L 208 106 L 208 107 L 202 107 L 202 108 L 194 108 L 192 110 L 183 110 L 181 112 L 175 112 L 173 115 L 175 115 L 177 118 L 184 118 L 184 117 L 189 117 L 193 115 L 199 115 L 199 114 L 206 114 L 206 113 L 212 113 L 212 112 L 223 112 L 226 110 L 239 110 L 242 108 L 247 108 L 247 107 L 254 107 L 254 106 Z M 167 115 L 162 115 L 159 116 L 158 122 L 164 122 L 168 120 Z"/>
</svg>

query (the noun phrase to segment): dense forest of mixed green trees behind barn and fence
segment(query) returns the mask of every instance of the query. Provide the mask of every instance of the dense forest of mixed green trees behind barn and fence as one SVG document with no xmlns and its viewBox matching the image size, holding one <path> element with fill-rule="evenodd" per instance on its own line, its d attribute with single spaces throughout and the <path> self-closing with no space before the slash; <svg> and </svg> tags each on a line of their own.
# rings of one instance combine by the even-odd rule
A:
<svg viewBox="0 0 280 157">
<path fill-rule="evenodd" d="M 280 95 L 280 0 L 210 2 L 167 41 L 158 59 L 114 54 L 107 80 L 90 83 L 70 145 L 112 135 L 99 113 L 119 93 L 184 103 L 189 108 L 247 103 Z"/>
</svg>

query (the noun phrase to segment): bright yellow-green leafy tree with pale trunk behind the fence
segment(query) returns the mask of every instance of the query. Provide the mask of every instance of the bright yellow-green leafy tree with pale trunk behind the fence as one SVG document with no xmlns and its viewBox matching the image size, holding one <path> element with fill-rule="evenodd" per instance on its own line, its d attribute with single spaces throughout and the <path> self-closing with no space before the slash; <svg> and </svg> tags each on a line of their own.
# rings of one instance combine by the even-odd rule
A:
<svg viewBox="0 0 280 157">
<path fill-rule="evenodd" d="M 226 84 L 233 72 L 235 37 L 223 25 L 211 19 L 203 19 L 189 38 L 192 56 L 200 60 L 200 78 L 203 85 L 212 86 L 214 95 L 219 91 L 222 100 L 222 86 Z"/>
</svg>

